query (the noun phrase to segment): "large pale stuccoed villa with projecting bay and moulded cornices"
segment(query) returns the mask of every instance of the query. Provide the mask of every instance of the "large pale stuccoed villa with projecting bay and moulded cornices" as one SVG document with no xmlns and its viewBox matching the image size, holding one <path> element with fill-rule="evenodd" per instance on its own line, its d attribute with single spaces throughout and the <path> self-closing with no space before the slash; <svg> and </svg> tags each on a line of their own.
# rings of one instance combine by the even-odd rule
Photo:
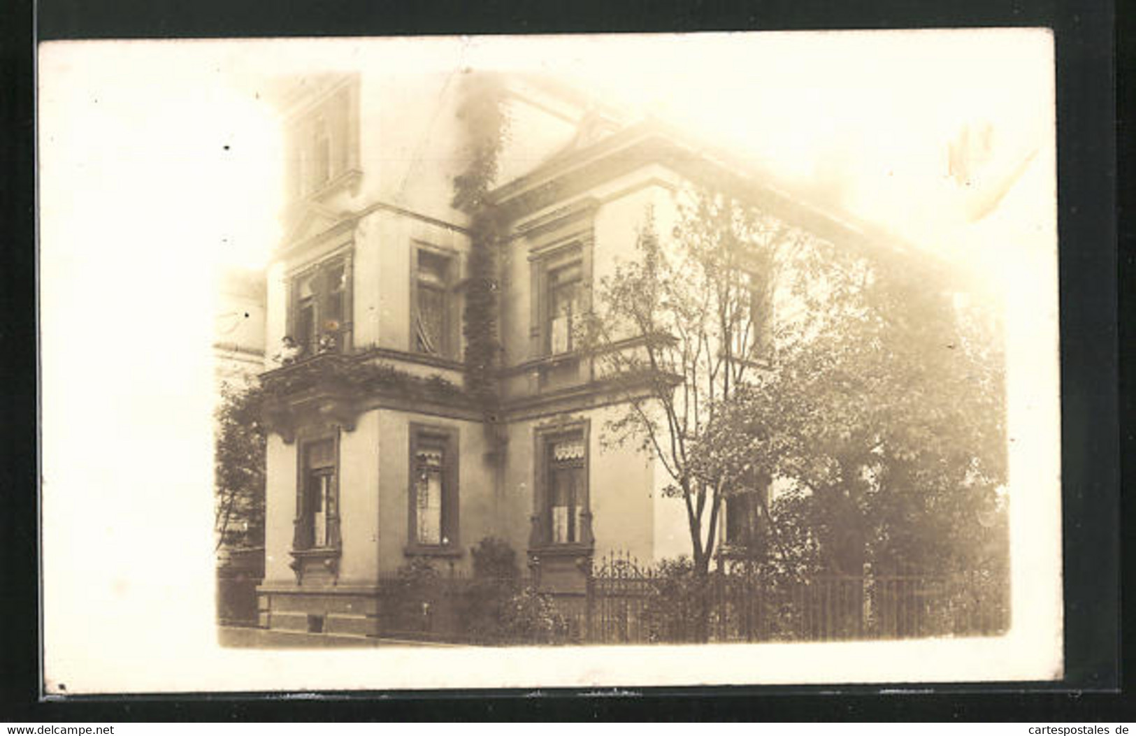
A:
<svg viewBox="0 0 1136 736">
<path fill-rule="evenodd" d="M 662 469 L 601 443 L 619 396 L 571 329 L 591 285 L 633 256 L 649 207 L 668 232 L 687 182 L 733 189 L 821 237 L 866 239 L 655 123 L 510 78 L 492 192 L 510 228 L 502 403 L 486 425 L 454 388 L 469 267 L 468 218 L 451 207 L 468 160 L 459 95 L 446 75 L 310 76 L 283 95 L 289 225 L 267 277 L 265 377 L 294 382 L 266 412 L 265 626 L 374 634 L 383 576 L 418 557 L 468 570 L 486 536 L 560 592 L 583 589 L 609 551 L 687 552 Z M 273 362 L 285 336 L 299 354 Z M 366 363 L 389 366 L 386 378 L 361 390 L 318 378 Z M 736 519 L 722 528 L 741 534 Z"/>
</svg>

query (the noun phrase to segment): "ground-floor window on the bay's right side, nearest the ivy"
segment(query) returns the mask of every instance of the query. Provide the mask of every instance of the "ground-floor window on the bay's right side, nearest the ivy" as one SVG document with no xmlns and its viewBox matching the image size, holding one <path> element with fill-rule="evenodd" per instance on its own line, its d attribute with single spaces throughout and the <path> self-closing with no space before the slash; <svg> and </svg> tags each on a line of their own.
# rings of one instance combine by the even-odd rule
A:
<svg viewBox="0 0 1136 736">
<path fill-rule="evenodd" d="M 410 552 L 446 552 L 458 543 L 458 436 L 410 427 Z"/>
</svg>

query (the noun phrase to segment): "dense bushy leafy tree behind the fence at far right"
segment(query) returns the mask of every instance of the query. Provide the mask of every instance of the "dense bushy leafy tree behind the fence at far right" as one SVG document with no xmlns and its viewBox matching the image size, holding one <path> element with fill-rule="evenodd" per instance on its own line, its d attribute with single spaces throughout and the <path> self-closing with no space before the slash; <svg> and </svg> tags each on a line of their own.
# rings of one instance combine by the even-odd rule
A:
<svg viewBox="0 0 1136 736">
<path fill-rule="evenodd" d="M 696 472 L 777 478 L 752 557 L 772 575 L 1006 569 L 1000 326 L 941 274 L 863 262 L 786 326 L 770 370 L 722 402 Z"/>
</svg>

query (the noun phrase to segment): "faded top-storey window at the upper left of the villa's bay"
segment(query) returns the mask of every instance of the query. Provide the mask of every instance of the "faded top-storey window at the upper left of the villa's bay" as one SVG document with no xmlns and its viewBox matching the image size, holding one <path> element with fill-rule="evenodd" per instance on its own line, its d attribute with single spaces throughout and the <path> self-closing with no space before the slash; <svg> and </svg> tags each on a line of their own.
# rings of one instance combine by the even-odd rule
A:
<svg viewBox="0 0 1136 736">
<path fill-rule="evenodd" d="M 317 194 L 359 166 L 358 93 L 340 84 L 301 110 L 287 126 L 293 196 Z"/>
</svg>

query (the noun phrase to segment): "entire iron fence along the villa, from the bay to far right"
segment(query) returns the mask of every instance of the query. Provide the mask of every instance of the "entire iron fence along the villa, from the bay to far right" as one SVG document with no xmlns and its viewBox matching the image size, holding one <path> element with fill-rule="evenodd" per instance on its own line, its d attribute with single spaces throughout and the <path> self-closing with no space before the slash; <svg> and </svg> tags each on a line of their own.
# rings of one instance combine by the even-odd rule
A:
<svg viewBox="0 0 1136 736">
<path fill-rule="evenodd" d="M 696 577 L 611 555 L 594 566 L 582 593 L 535 594 L 536 583 L 457 572 L 387 578 L 379 586 L 381 633 L 483 644 L 833 642 L 992 636 L 1010 622 L 1008 582 L 987 572 Z M 516 622 L 518 610 L 523 617 L 548 617 L 543 604 L 520 610 L 517 603 L 532 608 L 537 599 L 551 604 L 554 620 L 502 626 L 510 617 Z"/>
</svg>

